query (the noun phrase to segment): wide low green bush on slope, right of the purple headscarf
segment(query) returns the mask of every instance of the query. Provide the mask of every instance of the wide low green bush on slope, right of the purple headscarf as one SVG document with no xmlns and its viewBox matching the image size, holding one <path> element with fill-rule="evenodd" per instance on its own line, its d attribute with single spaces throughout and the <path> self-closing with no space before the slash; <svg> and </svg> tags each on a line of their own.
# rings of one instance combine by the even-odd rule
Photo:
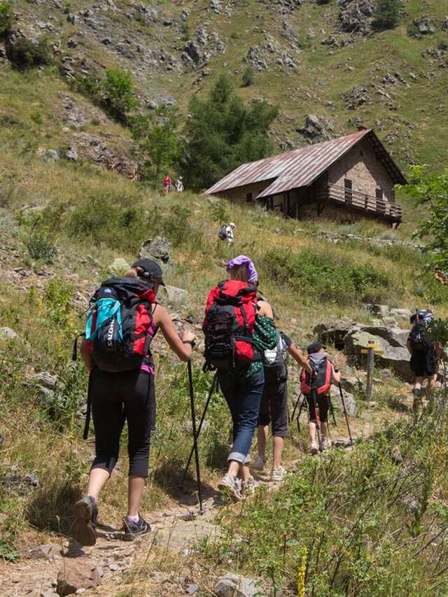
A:
<svg viewBox="0 0 448 597">
<path fill-rule="evenodd" d="M 269 251 L 262 259 L 267 276 L 298 290 L 309 300 L 326 300 L 339 304 L 369 298 L 379 300 L 390 286 L 386 271 L 370 264 L 354 265 L 334 260 L 317 251 Z"/>
</svg>

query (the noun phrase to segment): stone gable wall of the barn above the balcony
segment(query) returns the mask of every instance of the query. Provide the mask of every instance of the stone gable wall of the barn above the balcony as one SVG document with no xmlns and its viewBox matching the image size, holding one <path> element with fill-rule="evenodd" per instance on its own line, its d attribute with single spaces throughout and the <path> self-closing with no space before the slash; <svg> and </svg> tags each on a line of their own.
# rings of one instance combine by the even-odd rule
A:
<svg viewBox="0 0 448 597">
<path fill-rule="evenodd" d="M 360 141 L 328 170 L 330 184 L 344 187 L 344 178 L 352 181 L 353 191 L 375 197 L 376 189 L 380 188 L 384 199 L 395 203 L 391 177 L 367 139 Z"/>
</svg>

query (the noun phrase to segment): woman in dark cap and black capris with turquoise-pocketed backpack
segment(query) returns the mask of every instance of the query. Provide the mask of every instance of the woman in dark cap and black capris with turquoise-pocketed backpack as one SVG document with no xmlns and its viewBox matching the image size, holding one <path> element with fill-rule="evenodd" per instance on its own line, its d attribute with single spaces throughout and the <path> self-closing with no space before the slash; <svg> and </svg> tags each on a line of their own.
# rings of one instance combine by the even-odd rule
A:
<svg viewBox="0 0 448 597">
<path fill-rule="evenodd" d="M 151 531 L 139 507 L 148 477 L 151 426 L 155 421 L 154 361 L 151 340 L 160 328 L 169 347 L 183 361 L 191 357 L 192 332 L 179 337 L 156 295 L 162 269 L 149 259 L 136 261 L 124 278 L 102 283 L 94 295 L 81 356 L 90 371 L 87 398 L 88 433 L 92 405 L 96 456 L 90 468 L 86 495 L 75 504 L 74 535 L 81 545 L 94 545 L 99 492 L 118 461 L 125 421 L 130 461 L 128 510 L 124 539 Z"/>
</svg>

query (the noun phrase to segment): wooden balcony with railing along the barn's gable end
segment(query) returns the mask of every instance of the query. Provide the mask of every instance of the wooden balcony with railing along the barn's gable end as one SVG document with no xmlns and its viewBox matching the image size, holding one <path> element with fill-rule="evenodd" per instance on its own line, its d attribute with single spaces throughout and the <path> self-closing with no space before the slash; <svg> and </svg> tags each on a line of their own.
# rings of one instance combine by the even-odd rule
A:
<svg viewBox="0 0 448 597">
<path fill-rule="evenodd" d="M 366 195 L 363 192 L 330 184 L 327 185 L 326 190 L 322 189 L 318 195 L 318 199 L 345 205 L 350 209 L 363 211 L 372 216 L 380 216 L 391 222 L 400 223 L 402 221 L 402 207 L 397 203 L 391 203 L 387 199 L 377 199 L 377 197 Z"/>
</svg>

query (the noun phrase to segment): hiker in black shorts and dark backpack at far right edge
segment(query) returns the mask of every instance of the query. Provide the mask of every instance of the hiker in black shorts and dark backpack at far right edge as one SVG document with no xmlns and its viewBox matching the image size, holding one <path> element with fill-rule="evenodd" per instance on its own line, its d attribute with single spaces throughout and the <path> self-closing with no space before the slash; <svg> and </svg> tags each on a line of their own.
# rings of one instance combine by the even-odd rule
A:
<svg viewBox="0 0 448 597">
<path fill-rule="evenodd" d="M 431 342 L 428 339 L 426 332 L 426 325 L 433 321 L 434 315 L 432 311 L 428 310 L 417 310 L 410 317 L 410 323 L 412 324 L 409 337 L 407 338 L 407 350 L 411 355 L 411 369 L 414 373 L 414 402 L 412 409 L 415 414 L 418 413 L 419 407 L 421 406 L 422 393 L 421 384 L 426 379 L 428 381 L 428 387 L 426 389 L 426 395 L 430 398 L 435 388 L 435 382 L 437 381 L 437 368 L 440 360 L 440 345 L 436 342 Z"/>
</svg>

